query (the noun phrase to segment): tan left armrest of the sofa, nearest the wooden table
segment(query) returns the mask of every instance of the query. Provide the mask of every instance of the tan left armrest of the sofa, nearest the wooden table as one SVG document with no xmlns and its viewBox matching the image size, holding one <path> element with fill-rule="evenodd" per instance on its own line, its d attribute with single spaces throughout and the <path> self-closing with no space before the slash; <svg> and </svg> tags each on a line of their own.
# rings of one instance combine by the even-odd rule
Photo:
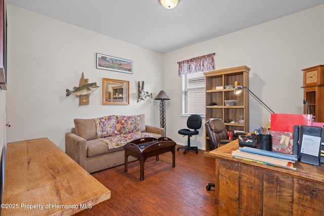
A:
<svg viewBox="0 0 324 216">
<path fill-rule="evenodd" d="M 65 134 L 65 153 L 87 170 L 87 140 L 73 133 Z"/>
</svg>

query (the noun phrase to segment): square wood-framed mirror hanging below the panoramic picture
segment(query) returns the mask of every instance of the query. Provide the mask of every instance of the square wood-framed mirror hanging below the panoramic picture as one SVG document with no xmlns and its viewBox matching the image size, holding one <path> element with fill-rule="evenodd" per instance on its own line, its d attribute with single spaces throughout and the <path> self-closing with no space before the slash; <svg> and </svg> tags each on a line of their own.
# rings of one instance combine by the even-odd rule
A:
<svg viewBox="0 0 324 216">
<path fill-rule="evenodd" d="M 128 105 L 130 101 L 129 81 L 102 78 L 102 104 Z"/>
</svg>

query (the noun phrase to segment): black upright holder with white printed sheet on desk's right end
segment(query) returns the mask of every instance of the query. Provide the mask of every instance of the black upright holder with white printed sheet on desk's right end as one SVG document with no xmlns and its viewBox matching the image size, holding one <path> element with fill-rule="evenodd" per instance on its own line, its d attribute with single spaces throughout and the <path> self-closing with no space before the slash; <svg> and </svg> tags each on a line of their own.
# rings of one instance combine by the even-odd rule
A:
<svg viewBox="0 0 324 216">
<path fill-rule="evenodd" d="M 298 161 L 319 165 L 322 133 L 322 127 L 299 127 Z"/>
</svg>

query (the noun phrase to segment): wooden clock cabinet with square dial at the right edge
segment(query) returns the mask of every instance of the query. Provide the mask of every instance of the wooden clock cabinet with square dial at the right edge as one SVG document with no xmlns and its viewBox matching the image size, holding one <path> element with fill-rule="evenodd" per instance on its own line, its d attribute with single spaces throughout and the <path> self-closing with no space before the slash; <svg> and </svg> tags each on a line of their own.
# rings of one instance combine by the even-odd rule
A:
<svg viewBox="0 0 324 216">
<path fill-rule="evenodd" d="M 308 108 L 308 113 L 313 115 L 315 121 L 324 122 L 324 65 L 305 68 L 302 71 L 304 101 L 308 101 L 304 105 L 304 114 Z"/>
</svg>

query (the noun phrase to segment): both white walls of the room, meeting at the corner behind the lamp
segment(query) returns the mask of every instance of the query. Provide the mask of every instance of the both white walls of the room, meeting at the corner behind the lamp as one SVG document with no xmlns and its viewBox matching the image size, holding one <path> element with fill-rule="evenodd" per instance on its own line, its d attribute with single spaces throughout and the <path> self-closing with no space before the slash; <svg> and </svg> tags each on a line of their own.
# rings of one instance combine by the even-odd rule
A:
<svg viewBox="0 0 324 216">
<path fill-rule="evenodd" d="M 181 118 L 181 77 L 178 61 L 216 53 L 216 69 L 247 65 L 250 89 L 276 113 L 302 113 L 301 69 L 324 64 L 324 5 L 217 37 L 165 55 L 97 34 L 8 4 L 7 141 L 48 137 L 64 150 L 64 134 L 74 118 L 145 113 L 147 123 L 159 125 L 159 101 L 136 103 L 137 81 L 145 81 L 153 98 L 165 90 L 167 136 L 185 144 L 178 130 Z M 134 61 L 134 74 L 95 68 L 95 54 Z M 130 105 L 102 105 L 102 89 L 90 105 L 65 96 L 78 85 L 81 73 L 89 82 L 102 78 L 129 80 Z M 250 98 L 250 131 L 269 124 L 270 114 Z M 205 119 L 204 119 L 205 120 Z M 203 128 L 192 145 L 205 149 Z"/>
</svg>

